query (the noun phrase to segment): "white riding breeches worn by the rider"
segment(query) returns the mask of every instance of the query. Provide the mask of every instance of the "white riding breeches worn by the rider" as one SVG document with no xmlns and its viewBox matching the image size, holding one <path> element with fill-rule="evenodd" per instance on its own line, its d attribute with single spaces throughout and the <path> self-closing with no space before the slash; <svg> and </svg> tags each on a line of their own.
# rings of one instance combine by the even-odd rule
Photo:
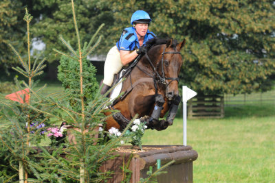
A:
<svg viewBox="0 0 275 183">
<path fill-rule="evenodd" d="M 112 47 L 104 63 L 104 79 L 103 83 L 111 86 L 113 83 L 113 76 L 122 69 L 123 64 L 120 60 L 120 51 L 116 45 Z"/>
</svg>

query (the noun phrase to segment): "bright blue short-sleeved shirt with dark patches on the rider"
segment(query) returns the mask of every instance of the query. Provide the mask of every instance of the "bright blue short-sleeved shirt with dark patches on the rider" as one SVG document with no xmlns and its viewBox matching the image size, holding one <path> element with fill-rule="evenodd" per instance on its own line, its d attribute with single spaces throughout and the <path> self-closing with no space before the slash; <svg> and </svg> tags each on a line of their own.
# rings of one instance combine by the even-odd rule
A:
<svg viewBox="0 0 275 183">
<path fill-rule="evenodd" d="M 143 45 L 150 40 L 151 38 L 155 38 L 155 34 L 147 30 L 147 33 L 144 36 Z M 137 39 L 137 33 L 135 32 L 134 27 L 127 27 L 123 30 L 120 40 L 116 42 L 116 46 L 118 50 L 132 51 L 140 47 L 140 43 Z"/>
</svg>

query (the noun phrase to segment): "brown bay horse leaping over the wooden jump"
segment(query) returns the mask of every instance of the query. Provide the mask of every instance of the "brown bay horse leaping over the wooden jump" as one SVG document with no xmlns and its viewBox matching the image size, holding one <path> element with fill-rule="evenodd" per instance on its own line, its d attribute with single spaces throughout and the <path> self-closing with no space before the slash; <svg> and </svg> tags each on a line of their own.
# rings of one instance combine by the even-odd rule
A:
<svg viewBox="0 0 275 183">
<path fill-rule="evenodd" d="M 182 58 L 181 48 L 186 40 L 153 38 L 146 42 L 148 51 L 131 65 L 122 83 L 122 93 L 112 106 L 119 110 L 109 117 L 105 128 L 115 127 L 120 131 L 138 114 L 152 130 L 164 130 L 173 125 L 181 101 L 178 82 Z M 166 120 L 163 118 L 168 112 Z M 111 112 L 106 112 L 106 115 Z"/>
</svg>

